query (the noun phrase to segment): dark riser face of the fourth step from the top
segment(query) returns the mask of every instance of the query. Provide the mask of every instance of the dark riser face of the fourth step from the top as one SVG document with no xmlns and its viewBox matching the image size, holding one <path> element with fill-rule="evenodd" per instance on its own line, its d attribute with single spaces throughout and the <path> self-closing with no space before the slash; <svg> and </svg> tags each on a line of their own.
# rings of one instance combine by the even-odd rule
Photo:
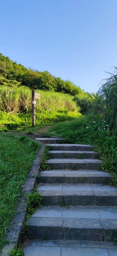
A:
<svg viewBox="0 0 117 256">
<path fill-rule="evenodd" d="M 89 170 L 98 170 L 100 168 L 99 163 L 48 163 L 51 169 L 56 170 L 79 170 L 79 169 L 89 169 Z"/>
</svg>

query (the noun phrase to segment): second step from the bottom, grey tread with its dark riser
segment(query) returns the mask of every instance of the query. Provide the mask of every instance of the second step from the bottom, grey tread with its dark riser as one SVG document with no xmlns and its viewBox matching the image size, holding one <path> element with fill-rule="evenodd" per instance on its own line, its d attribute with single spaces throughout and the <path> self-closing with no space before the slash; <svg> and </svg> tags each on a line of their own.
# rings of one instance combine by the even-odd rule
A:
<svg viewBox="0 0 117 256">
<path fill-rule="evenodd" d="M 36 208 L 27 221 L 28 239 L 111 241 L 117 237 L 117 207 Z"/>
</svg>

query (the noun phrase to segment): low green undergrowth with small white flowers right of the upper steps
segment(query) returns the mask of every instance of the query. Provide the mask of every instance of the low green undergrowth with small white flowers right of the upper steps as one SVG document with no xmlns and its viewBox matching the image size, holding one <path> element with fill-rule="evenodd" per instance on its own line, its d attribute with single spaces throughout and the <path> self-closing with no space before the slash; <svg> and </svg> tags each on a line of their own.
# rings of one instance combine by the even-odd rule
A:
<svg viewBox="0 0 117 256">
<path fill-rule="evenodd" d="M 102 168 L 106 172 L 116 171 L 117 137 L 100 115 L 88 114 L 74 121 L 58 123 L 52 126 L 48 133 L 65 137 L 66 143 L 94 145 L 103 160 Z"/>
</svg>

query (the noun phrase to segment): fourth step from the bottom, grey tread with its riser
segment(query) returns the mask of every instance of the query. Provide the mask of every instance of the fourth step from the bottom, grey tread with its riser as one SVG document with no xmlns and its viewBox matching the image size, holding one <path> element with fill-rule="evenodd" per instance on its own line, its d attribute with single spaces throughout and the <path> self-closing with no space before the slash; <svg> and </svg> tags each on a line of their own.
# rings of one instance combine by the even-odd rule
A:
<svg viewBox="0 0 117 256">
<path fill-rule="evenodd" d="M 41 183 L 97 183 L 102 184 L 105 182 L 106 178 L 112 178 L 113 176 L 101 171 L 92 171 L 88 172 L 87 170 L 74 171 L 72 170 L 66 171 L 61 170 L 59 173 L 56 173 L 57 170 L 54 171 L 42 171 L 39 177 L 39 182 Z M 77 173 L 76 173 L 77 172 Z"/>
</svg>

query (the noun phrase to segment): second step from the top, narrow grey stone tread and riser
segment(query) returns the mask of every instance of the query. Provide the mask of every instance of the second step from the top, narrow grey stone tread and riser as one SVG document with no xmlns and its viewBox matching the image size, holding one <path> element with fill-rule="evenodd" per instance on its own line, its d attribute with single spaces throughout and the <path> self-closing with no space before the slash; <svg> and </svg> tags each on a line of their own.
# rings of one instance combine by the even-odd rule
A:
<svg viewBox="0 0 117 256">
<path fill-rule="evenodd" d="M 92 151 L 93 146 L 84 144 L 49 144 L 52 150 Z"/>
</svg>

